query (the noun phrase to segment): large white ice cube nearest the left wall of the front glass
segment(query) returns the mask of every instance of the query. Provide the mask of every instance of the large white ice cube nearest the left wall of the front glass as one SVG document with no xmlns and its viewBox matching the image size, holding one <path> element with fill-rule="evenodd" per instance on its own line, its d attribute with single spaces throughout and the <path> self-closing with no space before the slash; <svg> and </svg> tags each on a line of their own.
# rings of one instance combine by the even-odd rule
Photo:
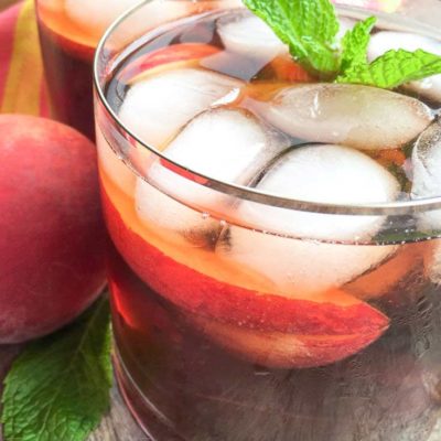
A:
<svg viewBox="0 0 441 441">
<path fill-rule="evenodd" d="M 136 83 L 119 118 L 139 138 L 162 149 L 192 118 L 243 83 L 197 68 L 166 71 Z"/>
</svg>

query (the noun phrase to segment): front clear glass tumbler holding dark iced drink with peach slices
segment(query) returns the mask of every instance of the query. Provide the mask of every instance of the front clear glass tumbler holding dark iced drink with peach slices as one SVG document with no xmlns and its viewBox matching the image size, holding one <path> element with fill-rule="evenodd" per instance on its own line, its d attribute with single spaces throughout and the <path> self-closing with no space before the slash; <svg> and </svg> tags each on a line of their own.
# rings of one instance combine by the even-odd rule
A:
<svg viewBox="0 0 441 441">
<path fill-rule="evenodd" d="M 376 37 L 440 44 L 438 1 L 427 20 L 420 1 L 379 3 Z M 372 10 L 338 13 L 344 25 Z M 280 107 L 291 88 L 327 98 L 278 44 L 239 2 L 153 0 L 98 46 L 121 391 L 155 440 L 439 440 L 441 189 L 418 191 L 440 158 L 438 78 L 351 86 L 361 131 L 330 144 L 308 93 L 311 121 Z M 404 135 L 413 107 L 426 122 Z M 344 109 L 327 116 L 337 128 Z M 376 130 L 409 139 L 379 149 Z"/>
</svg>

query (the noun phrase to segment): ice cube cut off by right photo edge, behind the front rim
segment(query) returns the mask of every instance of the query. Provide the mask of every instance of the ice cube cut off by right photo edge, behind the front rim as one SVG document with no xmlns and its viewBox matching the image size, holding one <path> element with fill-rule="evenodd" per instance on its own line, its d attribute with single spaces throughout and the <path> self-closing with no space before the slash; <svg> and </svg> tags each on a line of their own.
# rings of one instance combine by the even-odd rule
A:
<svg viewBox="0 0 441 441">
<path fill-rule="evenodd" d="M 433 122 L 419 137 L 412 151 L 412 190 L 415 200 L 441 196 L 441 123 Z M 419 215 L 418 227 L 432 232 L 441 229 L 441 209 Z"/>
</svg>

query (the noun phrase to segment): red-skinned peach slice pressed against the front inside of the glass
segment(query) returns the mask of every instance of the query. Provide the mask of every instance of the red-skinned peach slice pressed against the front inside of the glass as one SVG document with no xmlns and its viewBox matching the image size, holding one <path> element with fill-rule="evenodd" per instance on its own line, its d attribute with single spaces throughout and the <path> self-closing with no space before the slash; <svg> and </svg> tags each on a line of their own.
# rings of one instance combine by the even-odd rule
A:
<svg viewBox="0 0 441 441">
<path fill-rule="evenodd" d="M 237 332 L 241 342 L 247 341 L 247 335 L 252 336 L 255 343 L 244 344 L 240 349 L 248 359 L 256 358 L 255 347 L 259 338 L 291 335 L 292 341 L 302 342 L 309 351 L 308 362 L 294 347 L 291 352 L 283 349 L 276 359 L 268 358 L 268 365 L 304 367 L 329 364 L 357 353 L 388 327 L 389 320 L 380 311 L 342 290 L 331 290 L 314 297 L 314 301 L 288 299 L 203 275 L 174 261 L 133 233 L 105 190 L 103 202 L 114 244 L 135 272 L 155 292 L 202 318 L 205 330 L 208 329 L 207 321 L 224 323 L 226 329 L 219 329 L 218 333 L 213 331 L 217 335 L 212 335 L 214 340 L 222 340 L 222 335 L 232 330 L 232 337 Z"/>
</svg>

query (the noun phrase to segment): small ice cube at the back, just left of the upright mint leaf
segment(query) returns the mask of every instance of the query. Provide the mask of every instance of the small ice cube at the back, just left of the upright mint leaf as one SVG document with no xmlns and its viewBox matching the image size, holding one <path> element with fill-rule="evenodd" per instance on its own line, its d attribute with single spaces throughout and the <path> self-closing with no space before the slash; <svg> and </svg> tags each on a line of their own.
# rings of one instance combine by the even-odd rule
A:
<svg viewBox="0 0 441 441">
<path fill-rule="evenodd" d="M 225 49 L 245 56 L 270 62 L 288 53 L 288 46 L 262 20 L 249 13 L 235 13 L 217 21 L 217 32 Z"/>
</svg>

